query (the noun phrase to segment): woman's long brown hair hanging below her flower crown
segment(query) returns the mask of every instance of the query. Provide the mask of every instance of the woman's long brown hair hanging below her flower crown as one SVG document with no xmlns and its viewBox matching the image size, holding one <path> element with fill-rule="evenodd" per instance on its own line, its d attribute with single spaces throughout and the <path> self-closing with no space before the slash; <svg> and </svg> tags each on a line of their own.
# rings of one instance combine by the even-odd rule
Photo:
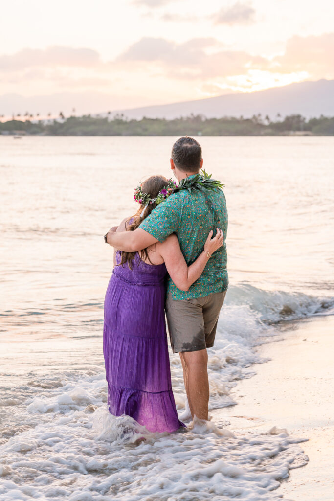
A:
<svg viewBox="0 0 334 501">
<path fill-rule="evenodd" d="M 151 176 L 148 179 L 146 179 L 146 181 L 143 182 L 142 192 L 148 193 L 150 195 L 150 198 L 155 198 L 157 196 L 157 194 L 159 193 L 159 191 L 161 191 L 166 186 L 168 186 L 168 181 L 164 176 Z M 128 219 L 128 221 L 125 225 L 126 230 L 127 231 L 134 231 L 136 228 L 138 228 L 140 223 L 144 219 L 146 219 L 146 217 L 148 215 L 150 215 L 150 213 L 152 212 L 153 209 L 155 209 L 156 206 L 157 206 L 157 204 L 155 202 L 149 203 L 145 209 L 143 216 L 142 216 L 141 213 L 143 212 L 144 207 L 145 207 L 145 204 L 142 203 L 140 208 L 136 212 L 136 214 L 134 214 L 132 217 L 130 217 Z M 133 219 L 133 221 L 129 224 L 129 221 L 131 221 L 131 219 Z M 137 254 L 136 252 L 122 252 L 121 253 L 121 262 L 119 263 L 118 266 L 120 266 L 120 265 L 123 266 L 125 263 L 128 263 L 130 270 L 132 270 L 132 262 L 136 256 L 136 254 Z M 148 260 L 151 263 L 151 260 L 148 256 L 148 252 L 147 252 L 146 248 L 141 250 L 139 257 L 142 261 Z"/>
</svg>

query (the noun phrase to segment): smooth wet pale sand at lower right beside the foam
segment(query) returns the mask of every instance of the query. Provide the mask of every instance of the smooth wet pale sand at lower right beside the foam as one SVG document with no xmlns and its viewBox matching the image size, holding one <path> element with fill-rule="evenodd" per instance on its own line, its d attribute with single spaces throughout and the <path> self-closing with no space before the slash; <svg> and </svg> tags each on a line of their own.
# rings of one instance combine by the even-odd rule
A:
<svg viewBox="0 0 334 501">
<path fill-rule="evenodd" d="M 231 396 L 236 406 L 212 411 L 213 420 L 230 421 L 235 434 L 286 428 L 298 438 L 308 463 L 290 471 L 279 493 L 296 501 L 334 499 L 334 316 L 296 324 L 284 339 L 261 345 L 268 362 L 254 366 L 256 375 L 241 380 Z"/>
</svg>

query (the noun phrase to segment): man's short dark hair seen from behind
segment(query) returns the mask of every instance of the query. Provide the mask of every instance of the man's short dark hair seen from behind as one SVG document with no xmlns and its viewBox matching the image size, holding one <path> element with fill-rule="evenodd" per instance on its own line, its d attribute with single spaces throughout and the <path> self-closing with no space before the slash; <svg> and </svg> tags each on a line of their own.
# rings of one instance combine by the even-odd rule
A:
<svg viewBox="0 0 334 501">
<path fill-rule="evenodd" d="M 192 137 L 180 137 L 172 148 L 175 167 L 184 172 L 197 172 L 201 166 L 202 148 Z"/>
</svg>

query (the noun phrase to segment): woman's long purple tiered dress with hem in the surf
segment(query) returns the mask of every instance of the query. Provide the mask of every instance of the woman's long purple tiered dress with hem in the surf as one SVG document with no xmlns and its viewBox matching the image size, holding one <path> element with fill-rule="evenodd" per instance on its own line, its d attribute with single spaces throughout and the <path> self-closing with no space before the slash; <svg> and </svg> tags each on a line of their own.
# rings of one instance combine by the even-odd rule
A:
<svg viewBox="0 0 334 501">
<path fill-rule="evenodd" d="M 117 263 L 120 253 L 116 254 Z M 166 267 L 138 254 L 116 266 L 104 303 L 103 352 L 109 411 L 126 414 L 150 431 L 174 431 L 178 419 L 171 385 L 165 324 Z"/>
</svg>

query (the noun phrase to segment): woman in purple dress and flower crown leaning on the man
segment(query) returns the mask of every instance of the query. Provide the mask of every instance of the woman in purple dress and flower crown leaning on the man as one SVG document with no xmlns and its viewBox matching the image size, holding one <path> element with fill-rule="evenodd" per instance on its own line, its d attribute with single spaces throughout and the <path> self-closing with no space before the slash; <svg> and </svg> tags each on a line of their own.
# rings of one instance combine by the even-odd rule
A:
<svg viewBox="0 0 334 501">
<path fill-rule="evenodd" d="M 173 181 L 151 176 L 135 191 L 138 212 L 117 231 L 139 226 L 158 203 L 172 193 Z M 202 274 L 210 255 L 223 244 L 223 234 L 210 231 L 197 260 L 187 266 L 175 234 L 140 253 L 114 254 L 104 307 L 103 350 L 109 411 L 126 414 L 150 431 L 175 431 L 179 421 L 171 385 L 165 324 L 165 277 L 187 291 Z"/>
</svg>

